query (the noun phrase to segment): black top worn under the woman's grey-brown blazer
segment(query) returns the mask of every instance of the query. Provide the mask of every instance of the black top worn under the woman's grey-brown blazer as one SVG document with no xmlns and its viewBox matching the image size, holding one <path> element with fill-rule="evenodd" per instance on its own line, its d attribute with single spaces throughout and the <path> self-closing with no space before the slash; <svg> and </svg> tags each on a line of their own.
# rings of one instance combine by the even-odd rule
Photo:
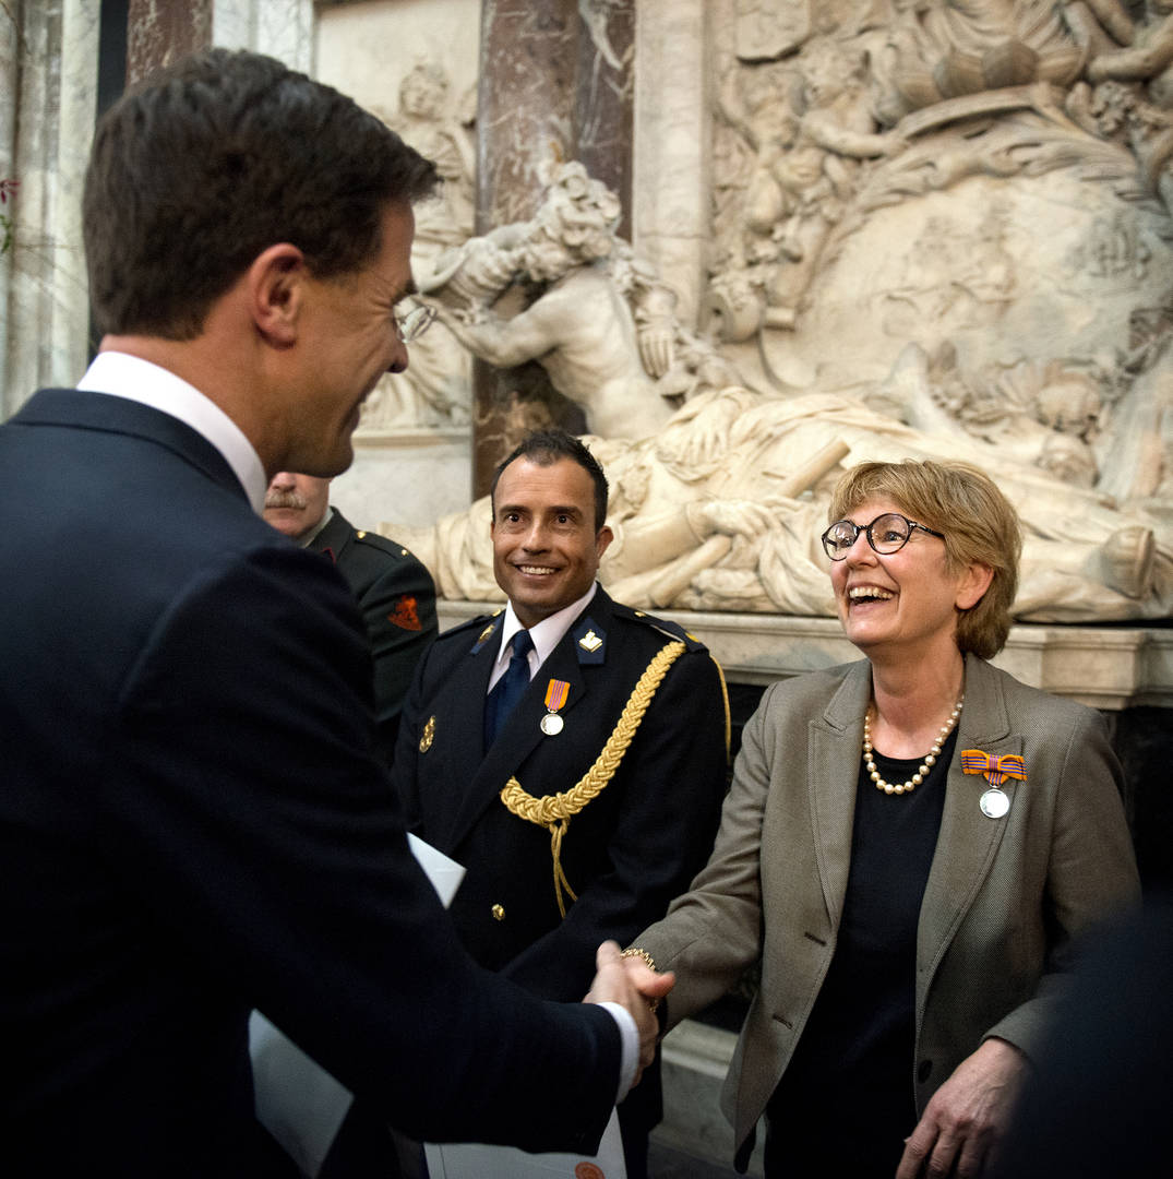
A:
<svg viewBox="0 0 1173 1179">
<path fill-rule="evenodd" d="M 916 928 L 956 744 L 954 729 L 907 795 L 877 790 L 861 756 L 835 956 L 766 1111 L 771 1179 L 896 1173 L 916 1125 Z M 923 760 L 872 757 L 879 776 L 896 783 Z"/>
</svg>

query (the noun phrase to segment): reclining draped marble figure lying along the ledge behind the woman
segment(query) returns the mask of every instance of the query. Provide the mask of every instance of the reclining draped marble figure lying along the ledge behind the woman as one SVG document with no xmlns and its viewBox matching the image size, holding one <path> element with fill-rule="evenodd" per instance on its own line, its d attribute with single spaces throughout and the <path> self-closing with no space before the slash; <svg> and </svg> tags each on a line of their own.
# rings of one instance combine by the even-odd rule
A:
<svg viewBox="0 0 1173 1179">
<path fill-rule="evenodd" d="M 996 448 L 902 426 L 858 399 L 782 399 L 730 387 L 681 408 L 655 436 L 588 439 L 612 482 L 615 540 L 601 577 L 652 608 L 832 613 L 819 534 L 831 486 L 864 459 L 957 457 L 996 469 L 1027 542 L 1015 614 L 1033 621 L 1166 617 L 1173 546 L 1122 512 Z M 430 529 L 388 522 L 448 598 L 496 600 L 488 498 Z"/>
</svg>

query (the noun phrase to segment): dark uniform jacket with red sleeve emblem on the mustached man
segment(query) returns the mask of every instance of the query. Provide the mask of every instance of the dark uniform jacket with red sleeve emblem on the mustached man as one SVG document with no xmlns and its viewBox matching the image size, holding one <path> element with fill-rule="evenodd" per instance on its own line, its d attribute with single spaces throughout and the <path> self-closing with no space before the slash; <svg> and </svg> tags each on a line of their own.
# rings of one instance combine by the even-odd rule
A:
<svg viewBox="0 0 1173 1179">
<path fill-rule="evenodd" d="M 375 660 L 375 724 L 388 764 L 420 656 L 439 633 L 431 574 L 402 545 L 355 528 L 337 509 L 305 546 L 334 561 L 362 611 Z"/>
</svg>

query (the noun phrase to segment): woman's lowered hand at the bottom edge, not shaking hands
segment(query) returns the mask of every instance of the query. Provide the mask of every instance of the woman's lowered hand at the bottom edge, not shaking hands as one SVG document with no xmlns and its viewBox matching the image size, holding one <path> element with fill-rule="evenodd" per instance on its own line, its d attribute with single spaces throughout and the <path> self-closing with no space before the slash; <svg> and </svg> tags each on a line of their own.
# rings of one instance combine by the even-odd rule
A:
<svg viewBox="0 0 1173 1179">
<path fill-rule="evenodd" d="M 989 1039 L 933 1094 L 904 1146 L 896 1179 L 982 1174 L 1006 1133 L 1027 1058 Z"/>
</svg>

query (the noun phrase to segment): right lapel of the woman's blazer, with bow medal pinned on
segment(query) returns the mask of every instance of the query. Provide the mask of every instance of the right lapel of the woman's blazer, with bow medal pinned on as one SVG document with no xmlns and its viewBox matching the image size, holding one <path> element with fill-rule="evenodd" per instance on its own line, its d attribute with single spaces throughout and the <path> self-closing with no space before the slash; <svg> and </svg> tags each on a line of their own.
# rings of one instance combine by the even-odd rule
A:
<svg viewBox="0 0 1173 1179">
<path fill-rule="evenodd" d="M 1001 681 L 983 660 L 966 657 L 966 704 L 957 723 L 957 747 L 945 780 L 941 834 L 929 870 L 917 927 L 917 1006 L 924 996 L 953 941 L 954 934 L 989 875 L 994 856 L 1006 831 L 1006 819 L 987 818 L 978 799 L 989 788 L 983 776 L 961 769 L 961 751 L 981 749 L 987 753 L 1021 753 L 1022 737 L 1011 732 Z M 1013 778 L 1002 788 L 1010 798 L 1022 783 Z"/>
</svg>

